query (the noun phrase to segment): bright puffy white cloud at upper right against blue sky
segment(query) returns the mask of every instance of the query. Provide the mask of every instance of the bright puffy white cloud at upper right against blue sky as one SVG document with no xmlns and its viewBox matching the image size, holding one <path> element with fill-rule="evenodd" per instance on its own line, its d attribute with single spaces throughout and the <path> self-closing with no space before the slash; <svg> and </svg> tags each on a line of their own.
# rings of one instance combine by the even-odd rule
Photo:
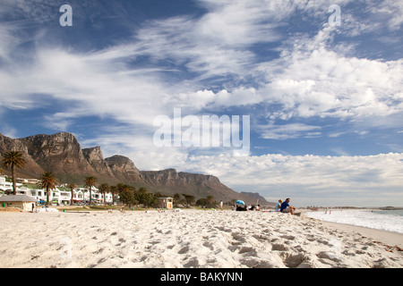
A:
<svg viewBox="0 0 403 286">
<path fill-rule="evenodd" d="M 278 60 L 262 63 L 259 88 L 217 93 L 214 105 L 281 105 L 268 114 L 279 118 L 314 116 L 359 120 L 399 114 L 403 107 L 403 60 L 382 62 L 332 51 L 330 29 L 299 38 Z"/>
</svg>

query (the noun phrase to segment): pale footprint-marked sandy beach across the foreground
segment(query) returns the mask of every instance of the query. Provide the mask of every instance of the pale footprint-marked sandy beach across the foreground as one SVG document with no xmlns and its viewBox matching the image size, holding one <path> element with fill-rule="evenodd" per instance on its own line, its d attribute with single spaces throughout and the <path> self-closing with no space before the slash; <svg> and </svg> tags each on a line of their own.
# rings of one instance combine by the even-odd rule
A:
<svg viewBox="0 0 403 286">
<path fill-rule="evenodd" d="M 0 228 L 0 267 L 403 267 L 397 248 L 290 214 L 4 212 Z"/>
</svg>

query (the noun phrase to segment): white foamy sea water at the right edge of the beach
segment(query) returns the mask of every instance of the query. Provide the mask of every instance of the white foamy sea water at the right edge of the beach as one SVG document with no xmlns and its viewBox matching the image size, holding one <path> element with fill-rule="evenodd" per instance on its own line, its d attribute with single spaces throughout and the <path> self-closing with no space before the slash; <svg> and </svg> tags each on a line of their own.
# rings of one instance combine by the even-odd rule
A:
<svg viewBox="0 0 403 286">
<path fill-rule="evenodd" d="M 304 213 L 325 222 L 364 226 L 382 231 L 403 233 L 403 210 L 336 210 Z"/>
</svg>

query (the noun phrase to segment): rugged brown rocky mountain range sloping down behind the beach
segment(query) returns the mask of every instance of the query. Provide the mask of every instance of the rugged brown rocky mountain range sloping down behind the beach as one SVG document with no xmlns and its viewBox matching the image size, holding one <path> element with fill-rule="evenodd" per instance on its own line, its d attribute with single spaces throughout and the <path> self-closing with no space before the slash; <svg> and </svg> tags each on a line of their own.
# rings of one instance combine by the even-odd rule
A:
<svg viewBox="0 0 403 286">
<path fill-rule="evenodd" d="M 22 139 L 11 139 L 0 133 L 0 157 L 11 150 L 21 151 L 27 162 L 23 169 L 18 170 L 19 177 L 39 178 L 43 172 L 49 171 L 54 172 L 60 182 L 80 185 L 86 176 L 93 175 L 99 183 L 128 183 L 166 195 L 186 193 L 196 199 L 211 195 L 216 201 L 243 199 L 246 203 L 256 202 L 255 196 L 237 193 L 212 175 L 176 172 L 175 169 L 139 171 L 126 156 L 104 158 L 100 147 L 81 149 L 78 140 L 67 132 Z M 267 203 L 260 202 L 261 205 Z"/>
</svg>

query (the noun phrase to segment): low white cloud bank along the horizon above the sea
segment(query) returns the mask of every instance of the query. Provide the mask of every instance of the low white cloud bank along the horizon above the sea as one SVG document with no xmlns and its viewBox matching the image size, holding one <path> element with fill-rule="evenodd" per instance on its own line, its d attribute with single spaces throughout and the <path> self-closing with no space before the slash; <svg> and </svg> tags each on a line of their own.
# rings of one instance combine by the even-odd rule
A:
<svg viewBox="0 0 403 286">
<path fill-rule="evenodd" d="M 328 206 L 346 206 L 353 199 L 357 202 L 371 197 L 371 201 L 362 199 L 356 206 L 382 206 L 373 198 L 382 198 L 379 204 L 388 201 L 392 206 L 403 206 L 401 198 L 396 197 L 401 192 L 403 154 L 198 156 L 190 157 L 186 168 L 219 176 L 233 189 L 258 191 L 263 197 L 299 197 L 304 203 L 320 200 Z M 337 199 L 333 203 L 325 198 Z"/>
</svg>

